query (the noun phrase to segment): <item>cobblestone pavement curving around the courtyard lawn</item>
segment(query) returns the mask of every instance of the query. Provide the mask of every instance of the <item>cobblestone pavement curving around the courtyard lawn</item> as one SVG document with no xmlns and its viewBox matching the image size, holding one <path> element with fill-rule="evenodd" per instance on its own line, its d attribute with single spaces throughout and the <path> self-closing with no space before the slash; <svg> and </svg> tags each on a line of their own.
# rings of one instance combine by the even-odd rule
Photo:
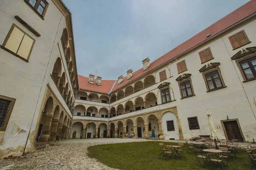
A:
<svg viewBox="0 0 256 170">
<path fill-rule="evenodd" d="M 69 139 L 13 159 L 1 159 L 0 170 L 114 170 L 87 156 L 87 147 L 97 144 L 145 142 L 145 139 Z M 157 140 L 158 142 L 184 142 Z M 245 143 L 239 146 L 246 148 Z"/>
</svg>

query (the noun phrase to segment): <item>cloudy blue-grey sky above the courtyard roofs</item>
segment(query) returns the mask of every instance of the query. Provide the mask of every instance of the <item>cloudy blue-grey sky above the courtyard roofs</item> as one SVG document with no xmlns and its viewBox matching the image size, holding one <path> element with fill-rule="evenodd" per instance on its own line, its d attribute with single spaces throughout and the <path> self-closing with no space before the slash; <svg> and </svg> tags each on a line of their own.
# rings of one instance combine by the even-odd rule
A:
<svg viewBox="0 0 256 170">
<path fill-rule="evenodd" d="M 127 76 L 249 0 L 63 0 L 72 13 L 78 74 Z M 97 70 L 97 72 L 96 72 Z"/>
</svg>

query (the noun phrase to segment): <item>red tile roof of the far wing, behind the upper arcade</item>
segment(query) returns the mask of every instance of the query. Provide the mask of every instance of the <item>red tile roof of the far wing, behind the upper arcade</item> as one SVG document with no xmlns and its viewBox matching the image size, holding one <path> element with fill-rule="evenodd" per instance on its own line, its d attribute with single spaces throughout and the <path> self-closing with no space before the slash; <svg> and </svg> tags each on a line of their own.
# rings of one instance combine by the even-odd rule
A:
<svg viewBox="0 0 256 170">
<path fill-rule="evenodd" d="M 89 83 L 89 78 L 78 75 L 78 83 L 80 89 L 85 89 L 88 91 L 96 91 L 99 93 L 108 94 L 113 87 L 116 80 L 101 80 L 101 85 L 96 85 L 96 79 L 94 79 L 94 84 Z"/>
</svg>

